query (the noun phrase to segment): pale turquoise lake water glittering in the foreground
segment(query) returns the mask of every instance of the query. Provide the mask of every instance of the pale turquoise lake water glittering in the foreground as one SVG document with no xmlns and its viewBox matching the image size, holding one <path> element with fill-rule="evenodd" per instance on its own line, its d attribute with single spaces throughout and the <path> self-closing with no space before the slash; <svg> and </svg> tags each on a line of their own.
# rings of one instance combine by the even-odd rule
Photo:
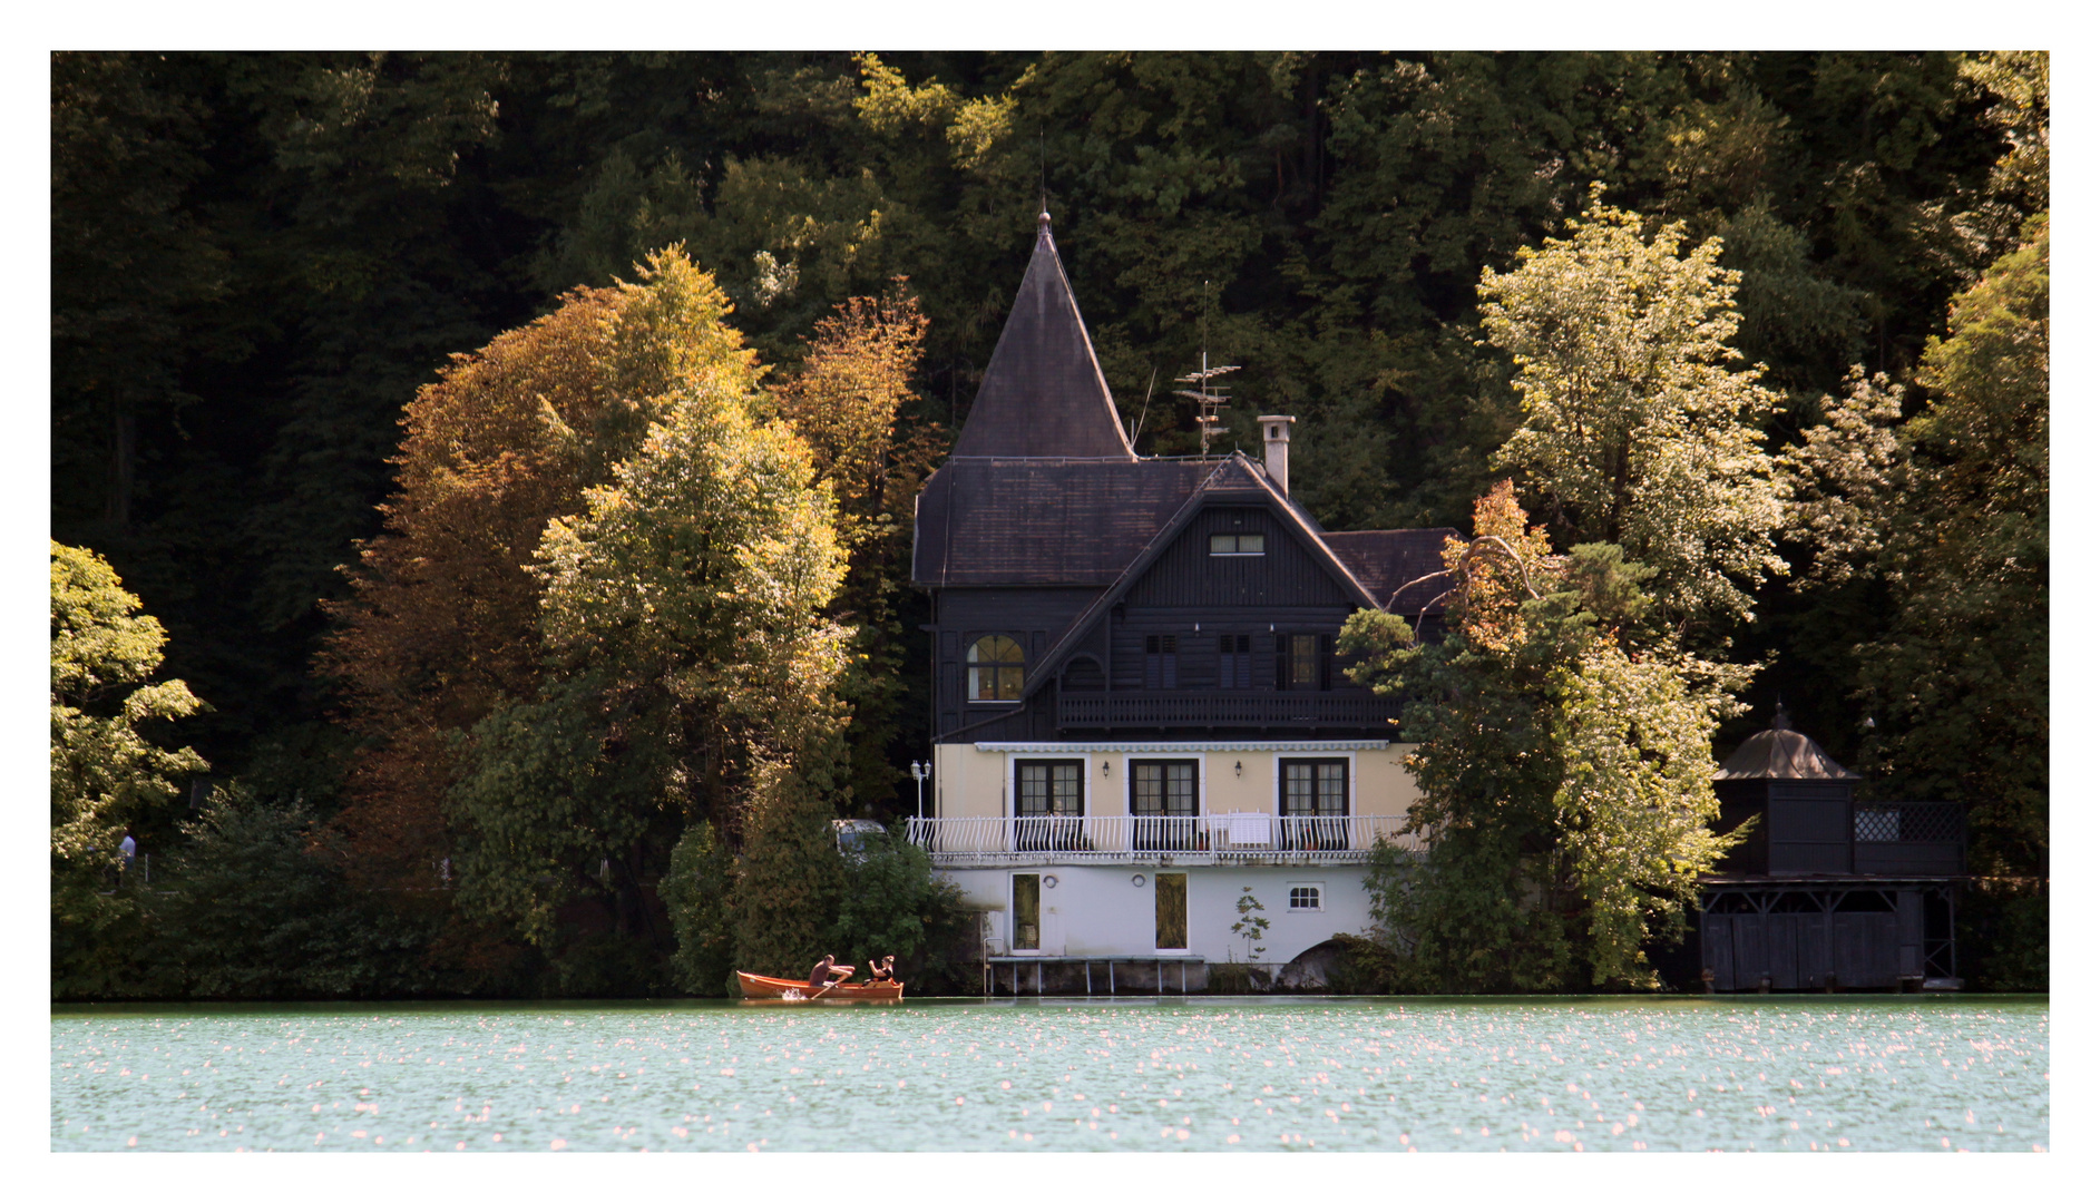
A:
<svg viewBox="0 0 2100 1203">
<path fill-rule="evenodd" d="M 50 1144 L 2050 1146 L 2045 997 L 92 1006 Z"/>
</svg>

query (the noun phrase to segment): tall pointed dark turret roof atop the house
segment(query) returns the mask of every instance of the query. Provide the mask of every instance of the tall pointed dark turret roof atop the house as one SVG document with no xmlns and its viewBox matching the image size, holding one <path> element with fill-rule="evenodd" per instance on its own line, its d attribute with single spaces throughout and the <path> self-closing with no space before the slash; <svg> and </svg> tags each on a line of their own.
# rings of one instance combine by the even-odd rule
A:
<svg viewBox="0 0 2100 1203">
<path fill-rule="evenodd" d="M 1136 460 L 1050 241 L 1050 214 L 1035 227 L 1035 254 L 953 456 Z"/>
</svg>

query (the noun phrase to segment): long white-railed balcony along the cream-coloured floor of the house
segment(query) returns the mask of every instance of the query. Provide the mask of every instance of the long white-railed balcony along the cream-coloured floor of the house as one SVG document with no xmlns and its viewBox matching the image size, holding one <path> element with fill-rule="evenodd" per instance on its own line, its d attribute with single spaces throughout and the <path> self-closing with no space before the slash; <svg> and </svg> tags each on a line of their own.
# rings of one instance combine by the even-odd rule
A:
<svg viewBox="0 0 2100 1203">
<path fill-rule="evenodd" d="M 1380 840 L 1422 850 L 1396 815 L 1279 817 L 1260 812 L 911 819 L 911 842 L 934 865 L 1363 865 Z"/>
</svg>

